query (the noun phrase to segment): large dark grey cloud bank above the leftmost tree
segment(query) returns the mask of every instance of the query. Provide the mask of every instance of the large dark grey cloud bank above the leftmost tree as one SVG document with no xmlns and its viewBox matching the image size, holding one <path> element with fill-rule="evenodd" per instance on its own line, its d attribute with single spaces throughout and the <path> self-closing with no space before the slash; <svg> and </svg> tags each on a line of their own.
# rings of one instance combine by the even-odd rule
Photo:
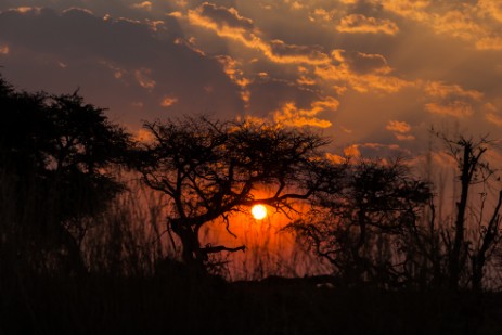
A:
<svg viewBox="0 0 502 335">
<path fill-rule="evenodd" d="M 190 113 L 242 111 L 239 87 L 214 59 L 176 39 L 156 38 L 149 25 L 96 17 L 82 10 L 7 11 L 0 41 L 10 54 L 7 77 L 26 89 L 57 92 L 80 87 L 131 125 Z M 165 96 L 179 102 L 163 107 Z"/>
</svg>

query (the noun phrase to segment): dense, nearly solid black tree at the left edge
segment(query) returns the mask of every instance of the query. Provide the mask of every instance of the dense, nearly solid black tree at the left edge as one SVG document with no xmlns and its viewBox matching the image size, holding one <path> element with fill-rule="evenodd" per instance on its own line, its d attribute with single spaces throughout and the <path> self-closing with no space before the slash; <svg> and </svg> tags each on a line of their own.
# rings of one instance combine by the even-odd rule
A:
<svg viewBox="0 0 502 335">
<path fill-rule="evenodd" d="M 2 233 L 35 267 L 83 271 L 86 220 L 120 191 L 108 168 L 124 162 L 130 137 L 77 92 L 17 92 L 2 79 L 0 94 Z"/>
</svg>

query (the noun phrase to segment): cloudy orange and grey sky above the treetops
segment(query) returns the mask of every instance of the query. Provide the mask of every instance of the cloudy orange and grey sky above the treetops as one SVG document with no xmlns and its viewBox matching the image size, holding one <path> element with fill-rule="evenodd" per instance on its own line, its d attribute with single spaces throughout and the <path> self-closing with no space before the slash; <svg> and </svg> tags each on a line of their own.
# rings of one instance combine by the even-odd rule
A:
<svg viewBox="0 0 502 335">
<path fill-rule="evenodd" d="M 502 1 L 2 0 L 0 68 L 141 137 L 209 114 L 312 127 L 333 150 L 428 150 L 429 129 L 502 138 Z"/>
</svg>

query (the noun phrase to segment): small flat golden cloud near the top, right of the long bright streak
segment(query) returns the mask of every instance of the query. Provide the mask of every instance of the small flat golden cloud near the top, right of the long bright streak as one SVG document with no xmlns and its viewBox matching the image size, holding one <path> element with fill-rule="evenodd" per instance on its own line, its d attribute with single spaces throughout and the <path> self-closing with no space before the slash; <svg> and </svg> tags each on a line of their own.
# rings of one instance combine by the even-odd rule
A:
<svg viewBox="0 0 502 335">
<path fill-rule="evenodd" d="M 336 26 L 340 33 L 387 34 L 396 35 L 399 27 L 390 20 L 368 17 L 362 14 L 350 14 L 342 18 Z"/>
</svg>

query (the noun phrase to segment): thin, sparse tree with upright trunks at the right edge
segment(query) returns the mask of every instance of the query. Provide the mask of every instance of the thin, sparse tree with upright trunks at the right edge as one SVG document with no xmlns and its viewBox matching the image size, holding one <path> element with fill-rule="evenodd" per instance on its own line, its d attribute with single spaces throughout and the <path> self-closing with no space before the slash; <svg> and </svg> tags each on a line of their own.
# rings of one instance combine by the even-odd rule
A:
<svg viewBox="0 0 502 335">
<path fill-rule="evenodd" d="M 471 282 L 474 289 L 482 288 L 485 266 L 493 254 L 500 242 L 500 223 L 502 221 L 500 209 L 502 205 L 502 189 L 497 190 L 495 204 L 492 206 L 491 215 L 485 219 L 487 204 L 487 191 L 490 180 L 494 177 L 495 170 L 484 159 L 484 156 L 492 144 L 487 138 L 474 141 L 460 136 L 452 140 L 438 133 L 438 137 L 448 147 L 449 154 L 458 166 L 461 191 L 456 202 L 456 212 L 452 229 L 445 231 L 445 243 L 448 252 L 448 278 L 449 287 L 456 291 L 461 286 L 463 278 Z M 478 218 L 469 220 L 467 210 L 469 208 L 469 195 L 475 185 L 481 185 L 481 202 L 479 204 Z M 475 212 L 475 210 L 472 210 Z M 476 215 L 474 215 L 476 216 Z M 469 239 L 466 232 L 471 230 L 478 239 Z M 467 261 L 471 260 L 471 271 Z M 465 275 L 465 272 L 469 274 Z"/>
</svg>

